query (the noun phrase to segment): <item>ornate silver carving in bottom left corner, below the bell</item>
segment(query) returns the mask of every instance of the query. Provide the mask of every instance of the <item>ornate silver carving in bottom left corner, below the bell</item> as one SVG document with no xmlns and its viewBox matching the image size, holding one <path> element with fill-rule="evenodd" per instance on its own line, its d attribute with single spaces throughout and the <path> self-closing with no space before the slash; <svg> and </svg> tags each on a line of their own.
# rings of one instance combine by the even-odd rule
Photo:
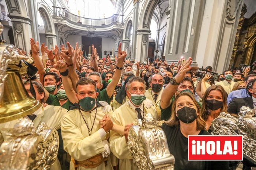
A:
<svg viewBox="0 0 256 170">
<path fill-rule="evenodd" d="M 46 123 L 35 128 L 23 118 L 1 133 L 5 140 L 0 147 L 0 170 L 48 170 L 57 158 L 59 136 Z"/>
</svg>

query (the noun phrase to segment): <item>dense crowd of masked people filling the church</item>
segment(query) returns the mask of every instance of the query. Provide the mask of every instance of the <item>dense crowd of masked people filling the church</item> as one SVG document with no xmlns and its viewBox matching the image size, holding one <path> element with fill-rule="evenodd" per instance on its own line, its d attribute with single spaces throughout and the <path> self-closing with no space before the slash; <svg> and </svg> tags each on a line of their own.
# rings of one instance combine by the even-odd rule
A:
<svg viewBox="0 0 256 170">
<path fill-rule="evenodd" d="M 22 79 L 45 113 L 39 120 L 36 113 L 29 118 L 58 130 L 62 169 L 136 170 L 127 147 L 128 132 L 147 113 L 164 121 L 176 170 L 236 169 L 240 163 L 188 161 L 188 135 L 211 135 L 211 123 L 221 112 L 256 108 L 255 65 L 221 74 L 207 66 L 198 74 L 191 71 L 192 58 L 177 63 L 135 61 L 127 59 L 121 43 L 114 60 L 99 58 L 94 45 L 90 58 L 84 57 L 78 43 L 51 50 L 31 38 L 30 45 L 27 62 L 38 73 Z"/>
</svg>

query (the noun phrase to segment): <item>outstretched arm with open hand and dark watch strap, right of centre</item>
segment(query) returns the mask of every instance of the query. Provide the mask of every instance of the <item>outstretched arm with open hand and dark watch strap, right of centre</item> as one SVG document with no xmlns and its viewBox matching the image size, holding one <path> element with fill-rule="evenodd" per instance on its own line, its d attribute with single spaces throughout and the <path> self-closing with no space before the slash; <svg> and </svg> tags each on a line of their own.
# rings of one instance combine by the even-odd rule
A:
<svg viewBox="0 0 256 170">
<path fill-rule="evenodd" d="M 184 79 L 186 72 L 188 72 L 191 69 L 190 67 L 191 63 L 192 63 L 192 58 L 189 57 L 189 59 L 184 63 L 184 65 L 181 66 L 178 74 L 176 74 L 176 76 L 174 77 L 176 82 L 180 83 Z M 169 83 L 163 89 L 163 94 L 167 94 L 167 95 L 161 96 L 160 105 L 162 109 L 165 109 L 170 106 L 171 99 L 173 95 L 176 93 L 177 88 L 178 88 L 178 85 L 172 85 Z"/>
</svg>

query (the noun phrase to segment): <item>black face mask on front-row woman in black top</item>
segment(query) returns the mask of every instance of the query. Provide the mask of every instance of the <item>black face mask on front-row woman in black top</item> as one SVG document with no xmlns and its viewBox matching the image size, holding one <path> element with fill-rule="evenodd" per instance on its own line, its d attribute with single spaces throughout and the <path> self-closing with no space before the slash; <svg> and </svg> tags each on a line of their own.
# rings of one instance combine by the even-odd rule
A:
<svg viewBox="0 0 256 170">
<path fill-rule="evenodd" d="M 177 111 L 178 119 L 183 123 L 191 123 L 196 120 L 196 109 L 191 107 L 182 107 Z"/>
</svg>

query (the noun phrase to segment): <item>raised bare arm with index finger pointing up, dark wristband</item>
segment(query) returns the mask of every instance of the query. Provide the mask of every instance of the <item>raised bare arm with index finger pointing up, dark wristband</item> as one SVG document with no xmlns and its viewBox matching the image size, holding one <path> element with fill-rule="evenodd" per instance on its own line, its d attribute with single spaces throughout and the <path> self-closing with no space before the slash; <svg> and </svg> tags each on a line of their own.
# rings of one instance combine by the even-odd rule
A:
<svg viewBox="0 0 256 170">
<path fill-rule="evenodd" d="M 124 59 L 127 56 L 125 51 L 121 51 L 121 46 L 122 46 L 122 43 L 120 43 L 118 46 L 116 72 L 113 75 L 112 81 L 109 83 L 109 85 L 106 88 L 109 98 L 113 95 L 114 89 L 116 88 L 116 86 L 118 84 L 118 81 L 121 77 L 123 65 L 124 65 Z M 120 68 L 121 70 L 118 68 Z"/>
</svg>

